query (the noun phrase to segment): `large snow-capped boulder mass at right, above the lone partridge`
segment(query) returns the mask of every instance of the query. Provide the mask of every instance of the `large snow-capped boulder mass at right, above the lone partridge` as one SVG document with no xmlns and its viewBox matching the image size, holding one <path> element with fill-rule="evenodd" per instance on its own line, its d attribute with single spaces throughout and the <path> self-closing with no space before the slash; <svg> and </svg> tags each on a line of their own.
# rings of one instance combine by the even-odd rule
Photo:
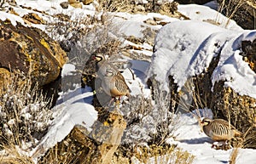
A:
<svg viewBox="0 0 256 164">
<path fill-rule="evenodd" d="M 241 55 L 241 42 L 255 38 L 255 31 L 173 22 L 155 38 L 148 76 L 172 93 L 177 104 L 172 110 L 180 104 L 187 106 L 185 110 L 207 107 L 246 132 L 255 122 L 256 74 Z"/>
</svg>

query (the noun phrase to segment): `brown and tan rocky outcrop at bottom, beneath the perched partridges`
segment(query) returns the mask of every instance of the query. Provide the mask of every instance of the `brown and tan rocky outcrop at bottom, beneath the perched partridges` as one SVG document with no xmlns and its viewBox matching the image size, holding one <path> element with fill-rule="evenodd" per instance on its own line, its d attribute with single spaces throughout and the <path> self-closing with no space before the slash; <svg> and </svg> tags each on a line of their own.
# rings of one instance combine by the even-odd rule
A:
<svg viewBox="0 0 256 164">
<path fill-rule="evenodd" d="M 118 111 L 102 110 L 104 111 L 98 122 L 92 126 L 91 133 L 85 127 L 73 127 L 71 133 L 50 149 L 39 163 L 52 163 L 52 159 L 77 164 L 112 163 L 113 154 L 119 147 L 126 122 Z"/>
</svg>

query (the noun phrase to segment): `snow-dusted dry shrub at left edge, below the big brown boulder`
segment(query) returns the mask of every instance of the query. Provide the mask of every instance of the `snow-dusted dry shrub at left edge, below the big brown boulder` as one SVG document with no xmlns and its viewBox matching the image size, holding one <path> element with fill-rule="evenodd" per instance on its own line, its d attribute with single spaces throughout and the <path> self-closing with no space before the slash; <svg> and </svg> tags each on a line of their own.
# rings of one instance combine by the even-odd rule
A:
<svg viewBox="0 0 256 164">
<path fill-rule="evenodd" d="M 0 95 L 1 149 L 17 145 L 20 150 L 31 150 L 51 122 L 51 99 L 20 72 L 10 76 L 4 91 Z"/>
</svg>

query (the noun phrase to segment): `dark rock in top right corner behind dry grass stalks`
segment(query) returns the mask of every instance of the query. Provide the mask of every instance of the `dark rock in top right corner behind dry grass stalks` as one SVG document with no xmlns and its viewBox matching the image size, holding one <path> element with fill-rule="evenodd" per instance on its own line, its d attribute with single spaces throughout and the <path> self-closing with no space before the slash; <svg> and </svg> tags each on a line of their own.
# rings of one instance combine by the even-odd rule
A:
<svg viewBox="0 0 256 164">
<path fill-rule="evenodd" d="M 224 3 L 221 12 L 235 20 L 243 29 L 256 29 L 256 3 L 254 0 L 218 0 L 218 3 Z"/>
</svg>

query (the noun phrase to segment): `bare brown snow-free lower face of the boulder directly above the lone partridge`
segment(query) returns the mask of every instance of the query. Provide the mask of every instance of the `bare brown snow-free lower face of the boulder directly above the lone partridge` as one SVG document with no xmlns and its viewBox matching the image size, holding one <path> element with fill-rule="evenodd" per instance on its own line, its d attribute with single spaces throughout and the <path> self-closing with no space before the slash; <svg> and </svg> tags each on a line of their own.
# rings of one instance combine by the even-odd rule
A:
<svg viewBox="0 0 256 164">
<path fill-rule="evenodd" d="M 241 132 L 247 132 L 248 127 L 255 124 L 256 106 L 254 105 L 256 99 L 247 95 L 241 96 L 232 88 L 225 88 L 224 82 L 214 85 L 212 99 L 214 99 L 214 103 L 209 106 L 214 114 L 224 117 L 226 120 L 230 117 L 230 122 Z M 256 144 L 254 145 L 256 146 Z"/>
</svg>

